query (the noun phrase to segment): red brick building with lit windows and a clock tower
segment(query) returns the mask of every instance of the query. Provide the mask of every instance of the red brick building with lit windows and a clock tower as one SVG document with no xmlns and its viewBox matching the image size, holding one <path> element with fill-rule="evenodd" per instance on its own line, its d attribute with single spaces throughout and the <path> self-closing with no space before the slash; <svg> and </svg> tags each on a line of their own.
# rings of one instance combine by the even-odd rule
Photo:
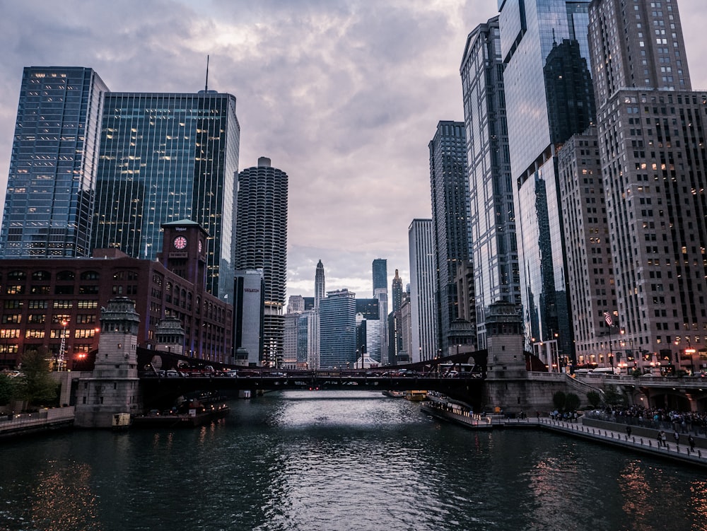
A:
<svg viewBox="0 0 707 531">
<path fill-rule="evenodd" d="M 100 308 L 110 298 L 135 301 L 138 346 L 155 346 L 162 317 L 178 317 L 187 356 L 232 360 L 233 307 L 206 293 L 207 234 L 193 221 L 163 226 L 158 261 L 96 249 L 90 258 L 0 259 L 0 368 L 29 346 L 62 353 L 67 368 L 98 348 Z"/>
</svg>

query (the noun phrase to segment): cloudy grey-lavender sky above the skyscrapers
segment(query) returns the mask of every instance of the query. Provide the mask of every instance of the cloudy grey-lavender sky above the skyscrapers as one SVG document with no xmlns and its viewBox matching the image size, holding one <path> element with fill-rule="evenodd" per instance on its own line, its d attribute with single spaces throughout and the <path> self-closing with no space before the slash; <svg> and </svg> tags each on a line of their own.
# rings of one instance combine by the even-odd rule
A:
<svg viewBox="0 0 707 531">
<path fill-rule="evenodd" d="M 663 0 L 665 1 L 665 0 Z M 90 66 L 112 91 L 238 99 L 240 168 L 289 175 L 288 293 L 371 296 L 370 264 L 409 282 L 407 228 L 431 216 L 427 144 L 463 120 L 459 65 L 496 0 L 0 0 L 0 204 L 24 66 Z M 704 0 L 679 3 L 707 88 Z M 390 287 L 390 281 L 388 283 Z"/>
</svg>

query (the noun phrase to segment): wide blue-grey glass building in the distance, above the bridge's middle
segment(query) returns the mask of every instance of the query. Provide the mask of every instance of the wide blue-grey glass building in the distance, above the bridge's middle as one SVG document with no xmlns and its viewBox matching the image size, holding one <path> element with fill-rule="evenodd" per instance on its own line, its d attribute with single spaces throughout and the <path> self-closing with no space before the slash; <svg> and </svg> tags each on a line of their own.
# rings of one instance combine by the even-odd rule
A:
<svg viewBox="0 0 707 531">
<path fill-rule="evenodd" d="M 320 368 L 353 368 L 356 363 L 356 293 L 327 291 L 320 301 Z"/>
</svg>

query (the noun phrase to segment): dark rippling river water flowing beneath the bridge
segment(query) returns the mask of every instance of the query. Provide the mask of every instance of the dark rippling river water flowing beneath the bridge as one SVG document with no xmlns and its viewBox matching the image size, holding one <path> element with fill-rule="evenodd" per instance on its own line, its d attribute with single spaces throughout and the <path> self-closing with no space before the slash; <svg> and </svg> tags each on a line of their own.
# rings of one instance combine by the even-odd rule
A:
<svg viewBox="0 0 707 531">
<path fill-rule="evenodd" d="M 0 530 L 705 530 L 703 469 L 374 392 L 230 402 L 194 429 L 0 445 Z"/>
</svg>

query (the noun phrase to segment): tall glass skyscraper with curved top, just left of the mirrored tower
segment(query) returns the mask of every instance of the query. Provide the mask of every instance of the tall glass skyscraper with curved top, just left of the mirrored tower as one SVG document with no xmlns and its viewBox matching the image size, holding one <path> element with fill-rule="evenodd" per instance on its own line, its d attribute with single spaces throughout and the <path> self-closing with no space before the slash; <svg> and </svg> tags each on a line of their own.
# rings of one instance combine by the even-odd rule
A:
<svg viewBox="0 0 707 531">
<path fill-rule="evenodd" d="M 466 128 L 474 304 L 479 349 L 486 349 L 486 310 L 498 300 L 521 308 L 513 182 L 503 88 L 498 17 L 467 37 L 462 65 Z M 458 283 L 457 283 L 458 285 Z M 462 304 L 462 297 L 460 297 Z"/>
</svg>

